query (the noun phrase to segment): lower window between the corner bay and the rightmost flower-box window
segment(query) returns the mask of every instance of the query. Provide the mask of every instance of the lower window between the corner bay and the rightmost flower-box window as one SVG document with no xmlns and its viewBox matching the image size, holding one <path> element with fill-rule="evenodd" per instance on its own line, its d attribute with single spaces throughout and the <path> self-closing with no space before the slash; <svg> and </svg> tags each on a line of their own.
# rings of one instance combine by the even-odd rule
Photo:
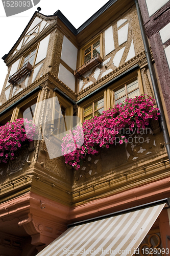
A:
<svg viewBox="0 0 170 256">
<path fill-rule="evenodd" d="M 100 98 L 91 102 L 83 109 L 83 121 L 90 119 L 94 116 L 100 116 L 104 111 L 104 98 Z"/>
</svg>

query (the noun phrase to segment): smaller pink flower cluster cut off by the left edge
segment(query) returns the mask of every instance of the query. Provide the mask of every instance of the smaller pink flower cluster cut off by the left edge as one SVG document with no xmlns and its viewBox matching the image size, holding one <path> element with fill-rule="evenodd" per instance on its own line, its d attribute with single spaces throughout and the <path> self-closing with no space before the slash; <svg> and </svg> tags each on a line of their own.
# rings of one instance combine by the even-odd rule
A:
<svg viewBox="0 0 170 256">
<path fill-rule="evenodd" d="M 23 118 L 7 122 L 0 127 L 0 163 L 14 159 L 14 152 L 21 147 L 23 141 L 32 141 L 37 134 L 36 125 L 32 120 Z"/>
</svg>

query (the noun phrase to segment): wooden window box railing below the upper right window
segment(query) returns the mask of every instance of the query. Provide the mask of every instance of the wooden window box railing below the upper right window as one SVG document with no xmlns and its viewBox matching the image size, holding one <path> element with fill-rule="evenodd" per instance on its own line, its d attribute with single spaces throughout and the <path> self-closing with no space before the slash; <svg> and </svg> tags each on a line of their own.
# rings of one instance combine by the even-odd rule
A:
<svg viewBox="0 0 170 256">
<path fill-rule="evenodd" d="M 100 63 L 102 63 L 102 58 L 99 55 L 96 55 L 95 57 L 93 57 L 92 59 L 88 60 L 86 63 L 84 63 L 80 68 L 76 69 L 74 71 L 74 75 L 77 78 L 80 78 L 82 75 L 84 75 L 87 71 L 95 68 L 96 66 L 98 66 Z"/>
</svg>

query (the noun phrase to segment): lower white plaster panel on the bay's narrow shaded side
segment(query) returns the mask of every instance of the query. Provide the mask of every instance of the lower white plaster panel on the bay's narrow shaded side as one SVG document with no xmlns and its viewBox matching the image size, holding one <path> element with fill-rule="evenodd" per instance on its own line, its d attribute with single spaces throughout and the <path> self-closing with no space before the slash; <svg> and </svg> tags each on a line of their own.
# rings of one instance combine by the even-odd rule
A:
<svg viewBox="0 0 170 256">
<path fill-rule="evenodd" d="M 75 76 L 72 75 L 61 63 L 59 67 L 58 78 L 72 91 L 75 91 Z"/>
</svg>

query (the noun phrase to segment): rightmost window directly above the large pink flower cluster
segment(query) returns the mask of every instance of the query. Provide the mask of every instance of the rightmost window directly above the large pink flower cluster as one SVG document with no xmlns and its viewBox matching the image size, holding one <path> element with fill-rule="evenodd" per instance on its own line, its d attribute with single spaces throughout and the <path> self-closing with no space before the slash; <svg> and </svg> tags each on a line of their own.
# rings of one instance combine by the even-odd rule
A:
<svg viewBox="0 0 170 256">
<path fill-rule="evenodd" d="M 122 103 L 127 97 L 134 98 L 139 96 L 139 84 L 138 80 L 134 79 L 125 83 L 122 87 L 113 91 L 114 104 Z"/>
</svg>

